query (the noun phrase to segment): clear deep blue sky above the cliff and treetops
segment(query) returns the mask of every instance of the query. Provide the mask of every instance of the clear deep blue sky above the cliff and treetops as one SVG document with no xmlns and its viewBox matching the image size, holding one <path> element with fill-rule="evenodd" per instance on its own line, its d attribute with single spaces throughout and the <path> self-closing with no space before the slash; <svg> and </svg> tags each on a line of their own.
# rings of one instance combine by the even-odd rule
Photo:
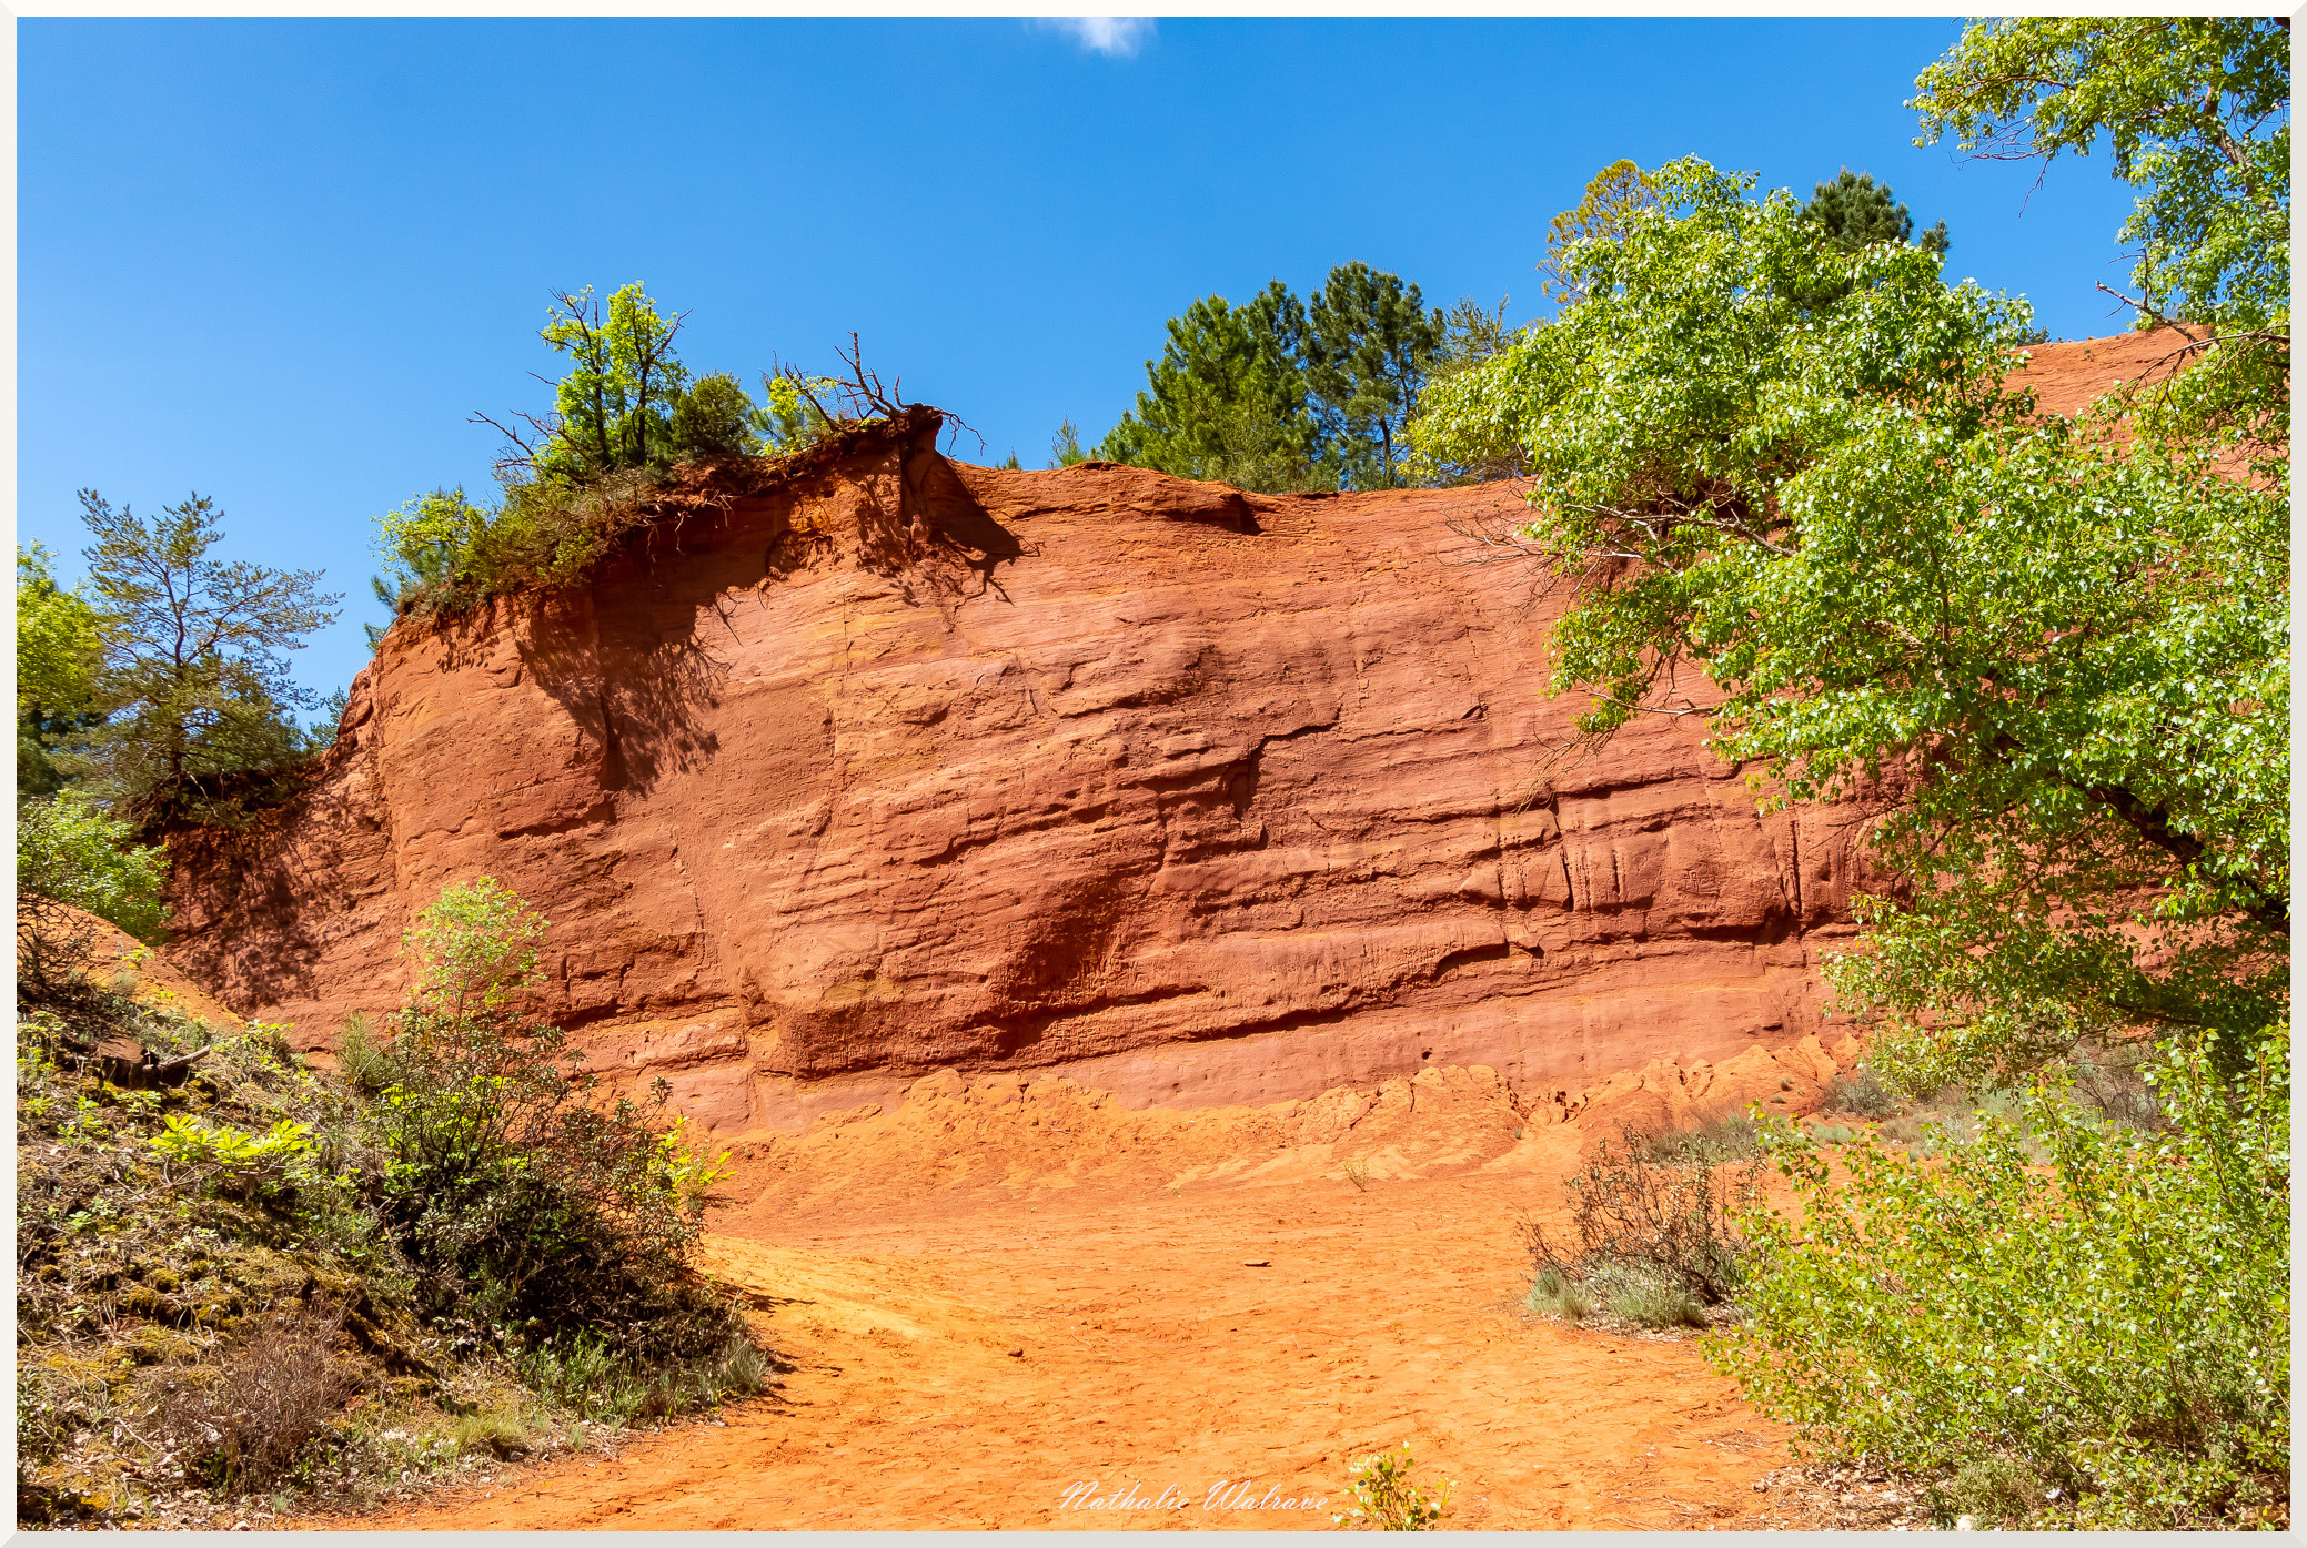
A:
<svg viewBox="0 0 2307 1548">
<path fill-rule="evenodd" d="M 1606 161 L 1809 194 L 1871 171 L 1949 270 L 2116 332 L 2104 159 L 1917 150 L 1952 21 L 18 21 L 18 538 L 198 489 L 231 549 L 381 621 L 374 517 L 489 484 L 466 418 L 544 408 L 547 291 L 644 279 L 747 383 L 858 330 L 904 394 L 1047 461 L 1163 321 L 1363 258 L 1532 316 L 1546 221 Z M 960 452 L 978 459 L 974 441 Z"/>
</svg>

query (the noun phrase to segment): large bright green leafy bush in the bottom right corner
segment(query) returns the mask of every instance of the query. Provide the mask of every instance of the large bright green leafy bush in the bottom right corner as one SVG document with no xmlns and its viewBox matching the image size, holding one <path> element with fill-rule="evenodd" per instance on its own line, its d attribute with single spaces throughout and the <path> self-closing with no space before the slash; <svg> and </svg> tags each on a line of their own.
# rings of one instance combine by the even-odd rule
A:
<svg viewBox="0 0 2307 1548">
<path fill-rule="evenodd" d="M 1862 1144 L 1848 1177 L 1774 1130 L 1802 1225 L 1751 1218 L 1767 1269 L 1714 1359 L 1813 1446 L 2000 1500 L 2005 1525 L 2231 1525 L 2286 1500 L 2289 1043 L 2238 1077 L 2187 1050 L 2152 1073 L 2173 1117 L 2152 1135 L 2049 1084 L 2026 1128 L 1986 1117 L 1933 1160 Z M 2009 1479 L 2046 1488 L 2019 1511 Z"/>
</svg>

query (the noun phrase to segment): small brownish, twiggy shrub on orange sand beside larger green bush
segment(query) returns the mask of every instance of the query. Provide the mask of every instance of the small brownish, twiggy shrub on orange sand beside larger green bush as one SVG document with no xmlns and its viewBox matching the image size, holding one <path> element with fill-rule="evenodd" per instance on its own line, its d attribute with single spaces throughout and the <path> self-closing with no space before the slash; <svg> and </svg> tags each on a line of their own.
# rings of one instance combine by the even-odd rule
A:
<svg viewBox="0 0 2307 1548">
<path fill-rule="evenodd" d="M 1763 1165 L 1760 1156 L 1744 1167 L 1726 1163 L 1739 1133 L 1709 1126 L 1603 1140 L 1569 1179 L 1576 1246 L 1557 1246 L 1536 1220 L 1520 1223 L 1532 1308 L 1580 1303 L 1643 1327 L 1682 1327 L 1726 1306 L 1751 1269 L 1737 1211 L 1756 1197 Z"/>
</svg>

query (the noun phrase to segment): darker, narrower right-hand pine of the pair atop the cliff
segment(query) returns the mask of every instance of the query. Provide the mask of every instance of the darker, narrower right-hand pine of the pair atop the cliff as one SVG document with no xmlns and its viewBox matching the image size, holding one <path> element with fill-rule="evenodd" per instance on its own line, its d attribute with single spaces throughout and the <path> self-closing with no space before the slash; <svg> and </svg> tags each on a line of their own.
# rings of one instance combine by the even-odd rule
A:
<svg viewBox="0 0 2307 1548">
<path fill-rule="evenodd" d="M 1357 258 L 1329 272 L 1303 318 L 1306 385 L 1333 424 L 1345 480 L 1357 489 L 1400 487 L 1400 429 L 1442 346 L 1442 314 L 1426 311 L 1419 288 L 1400 275 Z"/>
</svg>

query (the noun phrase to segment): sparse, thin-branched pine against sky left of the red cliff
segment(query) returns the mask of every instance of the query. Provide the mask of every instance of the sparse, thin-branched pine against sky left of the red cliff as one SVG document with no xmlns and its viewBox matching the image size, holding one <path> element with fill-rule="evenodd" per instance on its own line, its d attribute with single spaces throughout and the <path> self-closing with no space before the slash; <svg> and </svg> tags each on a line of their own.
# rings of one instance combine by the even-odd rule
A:
<svg viewBox="0 0 2307 1548">
<path fill-rule="evenodd" d="M 337 618 L 318 570 L 212 558 L 215 503 L 194 494 L 145 521 L 81 491 L 95 544 L 88 602 L 102 655 L 88 759 L 102 789 L 138 821 L 233 821 L 224 775 L 277 771 L 300 757 L 288 708 L 316 697 L 288 678 L 281 651 Z"/>
</svg>

